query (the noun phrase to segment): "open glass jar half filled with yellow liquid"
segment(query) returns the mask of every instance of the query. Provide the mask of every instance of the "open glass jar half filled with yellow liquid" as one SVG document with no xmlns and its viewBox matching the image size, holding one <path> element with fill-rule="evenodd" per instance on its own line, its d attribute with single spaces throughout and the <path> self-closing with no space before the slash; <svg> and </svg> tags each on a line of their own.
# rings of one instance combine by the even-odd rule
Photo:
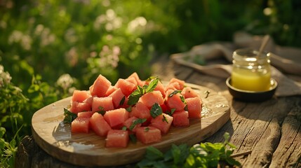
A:
<svg viewBox="0 0 301 168">
<path fill-rule="evenodd" d="M 231 85 L 240 90 L 266 91 L 271 86 L 270 53 L 243 48 L 233 52 Z"/>
</svg>

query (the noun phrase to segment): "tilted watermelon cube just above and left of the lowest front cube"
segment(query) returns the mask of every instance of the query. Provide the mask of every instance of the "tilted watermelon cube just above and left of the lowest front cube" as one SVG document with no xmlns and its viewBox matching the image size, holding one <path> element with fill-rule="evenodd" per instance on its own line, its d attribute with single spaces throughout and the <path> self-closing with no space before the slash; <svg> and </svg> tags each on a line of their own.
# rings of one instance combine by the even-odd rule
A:
<svg viewBox="0 0 301 168">
<path fill-rule="evenodd" d="M 95 134 L 98 134 L 101 137 L 107 136 L 107 132 L 111 130 L 111 127 L 109 127 L 109 124 L 107 123 L 107 121 L 105 121 L 100 113 L 93 113 L 90 118 L 90 125 L 91 130 L 93 130 Z"/>
</svg>

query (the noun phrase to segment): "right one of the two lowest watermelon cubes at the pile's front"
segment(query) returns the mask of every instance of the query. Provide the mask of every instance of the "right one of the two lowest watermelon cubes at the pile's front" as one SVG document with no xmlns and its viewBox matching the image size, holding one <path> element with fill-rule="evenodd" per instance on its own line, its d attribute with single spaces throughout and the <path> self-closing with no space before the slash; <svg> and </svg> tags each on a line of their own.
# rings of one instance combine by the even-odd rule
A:
<svg viewBox="0 0 301 168">
<path fill-rule="evenodd" d="M 156 127 L 138 127 L 135 135 L 143 144 L 161 141 L 161 131 Z"/>
</svg>

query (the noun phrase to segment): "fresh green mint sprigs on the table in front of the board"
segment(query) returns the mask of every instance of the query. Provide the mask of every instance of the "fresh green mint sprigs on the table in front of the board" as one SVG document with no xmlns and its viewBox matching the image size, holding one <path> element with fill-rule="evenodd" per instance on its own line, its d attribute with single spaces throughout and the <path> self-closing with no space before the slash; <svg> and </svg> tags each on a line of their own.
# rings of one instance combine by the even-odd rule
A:
<svg viewBox="0 0 301 168">
<path fill-rule="evenodd" d="M 226 162 L 229 166 L 240 166 L 231 157 L 236 147 L 229 143 L 229 133 L 226 132 L 224 138 L 223 143 L 205 142 L 192 147 L 187 144 L 173 144 L 166 153 L 149 146 L 145 158 L 138 162 L 137 167 L 218 167 L 220 162 Z"/>
</svg>

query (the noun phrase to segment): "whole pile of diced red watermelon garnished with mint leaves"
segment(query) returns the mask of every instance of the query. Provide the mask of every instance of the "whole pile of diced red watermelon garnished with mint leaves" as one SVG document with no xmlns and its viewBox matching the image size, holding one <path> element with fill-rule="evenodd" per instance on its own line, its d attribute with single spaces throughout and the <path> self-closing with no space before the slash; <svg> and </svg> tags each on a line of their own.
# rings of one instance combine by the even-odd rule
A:
<svg viewBox="0 0 301 168">
<path fill-rule="evenodd" d="M 170 127 L 189 127 L 201 118 L 202 100 L 184 80 L 164 86 L 158 78 L 140 80 L 137 73 L 115 85 L 99 75 L 89 90 L 75 90 L 69 111 L 76 114 L 72 134 L 95 132 L 106 147 L 126 147 L 129 137 L 143 144 L 161 141 Z"/>
</svg>

